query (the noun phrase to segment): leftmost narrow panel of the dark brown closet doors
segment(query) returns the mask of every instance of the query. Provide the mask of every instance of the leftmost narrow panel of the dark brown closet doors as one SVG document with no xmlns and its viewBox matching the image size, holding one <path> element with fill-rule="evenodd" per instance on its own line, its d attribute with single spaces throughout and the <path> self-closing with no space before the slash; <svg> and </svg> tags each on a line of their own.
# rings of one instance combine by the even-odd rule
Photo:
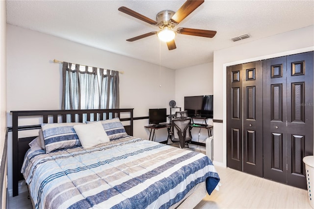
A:
<svg viewBox="0 0 314 209">
<path fill-rule="evenodd" d="M 227 67 L 227 166 L 242 171 L 242 64 Z"/>
</svg>

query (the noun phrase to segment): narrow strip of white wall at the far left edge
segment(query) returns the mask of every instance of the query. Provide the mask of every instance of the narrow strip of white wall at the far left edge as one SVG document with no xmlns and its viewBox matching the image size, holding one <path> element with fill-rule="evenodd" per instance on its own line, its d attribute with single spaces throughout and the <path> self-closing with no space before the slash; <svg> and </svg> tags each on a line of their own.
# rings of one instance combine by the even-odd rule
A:
<svg viewBox="0 0 314 209">
<path fill-rule="evenodd" d="M 0 1 L 0 161 L 6 133 L 6 2 Z M 4 178 L 5 179 L 5 178 Z M 0 185 L 4 191 L 0 208 L 6 205 L 6 182 Z"/>
</svg>

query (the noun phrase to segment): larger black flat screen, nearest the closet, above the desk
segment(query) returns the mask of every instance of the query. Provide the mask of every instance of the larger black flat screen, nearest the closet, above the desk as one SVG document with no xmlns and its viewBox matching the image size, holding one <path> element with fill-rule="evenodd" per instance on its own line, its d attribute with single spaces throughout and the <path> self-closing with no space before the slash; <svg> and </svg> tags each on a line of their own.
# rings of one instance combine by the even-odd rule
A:
<svg viewBox="0 0 314 209">
<path fill-rule="evenodd" d="M 189 117 L 213 117 L 213 95 L 184 97 L 184 110 Z"/>
</svg>

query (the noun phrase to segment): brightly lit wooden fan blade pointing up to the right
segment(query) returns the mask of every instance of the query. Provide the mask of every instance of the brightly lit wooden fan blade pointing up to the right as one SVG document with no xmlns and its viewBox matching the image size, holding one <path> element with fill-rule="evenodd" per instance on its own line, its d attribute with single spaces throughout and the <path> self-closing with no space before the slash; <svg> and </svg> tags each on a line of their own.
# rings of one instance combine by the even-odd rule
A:
<svg viewBox="0 0 314 209">
<path fill-rule="evenodd" d="M 180 9 L 172 16 L 170 19 L 174 24 L 178 24 L 183 21 L 191 12 L 193 12 L 197 7 L 199 7 L 204 0 L 187 0 Z"/>
</svg>

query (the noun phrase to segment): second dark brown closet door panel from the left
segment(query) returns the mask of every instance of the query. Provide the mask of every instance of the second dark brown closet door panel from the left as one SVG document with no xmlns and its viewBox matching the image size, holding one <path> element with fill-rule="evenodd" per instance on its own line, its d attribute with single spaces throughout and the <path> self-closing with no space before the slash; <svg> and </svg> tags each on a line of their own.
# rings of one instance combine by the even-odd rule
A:
<svg viewBox="0 0 314 209">
<path fill-rule="evenodd" d="M 242 65 L 243 171 L 263 176 L 262 61 Z"/>
</svg>

